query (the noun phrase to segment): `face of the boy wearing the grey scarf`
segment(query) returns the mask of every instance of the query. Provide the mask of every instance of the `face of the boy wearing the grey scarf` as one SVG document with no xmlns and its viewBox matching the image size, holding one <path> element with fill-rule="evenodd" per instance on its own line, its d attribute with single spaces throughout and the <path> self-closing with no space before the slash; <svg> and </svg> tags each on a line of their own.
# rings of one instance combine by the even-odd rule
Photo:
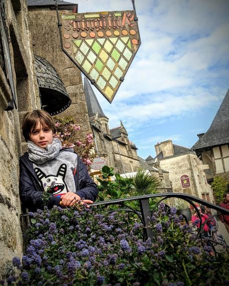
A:
<svg viewBox="0 0 229 286">
<path fill-rule="evenodd" d="M 52 129 L 48 126 L 43 126 L 38 121 L 35 128 L 29 133 L 29 139 L 40 148 L 46 148 L 53 140 Z"/>
</svg>

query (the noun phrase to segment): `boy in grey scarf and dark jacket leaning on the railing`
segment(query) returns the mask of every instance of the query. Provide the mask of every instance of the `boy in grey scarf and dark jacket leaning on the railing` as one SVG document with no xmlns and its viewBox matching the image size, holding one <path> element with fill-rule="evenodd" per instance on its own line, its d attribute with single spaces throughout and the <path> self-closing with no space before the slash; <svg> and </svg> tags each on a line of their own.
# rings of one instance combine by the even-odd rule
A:
<svg viewBox="0 0 229 286">
<path fill-rule="evenodd" d="M 69 207 L 79 200 L 83 203 L 95 201 L 97 185 L 73 148 L 61 149 L 60 140 L 53 137 L 56 127 L 48 112 L 27 112 L 22 132 L 28 142 L 28 152 L 20 157 L 22 206 L 30 211 L 43 208 L 44 191 L 50 195 L 48 208 Z"/>
</svg>

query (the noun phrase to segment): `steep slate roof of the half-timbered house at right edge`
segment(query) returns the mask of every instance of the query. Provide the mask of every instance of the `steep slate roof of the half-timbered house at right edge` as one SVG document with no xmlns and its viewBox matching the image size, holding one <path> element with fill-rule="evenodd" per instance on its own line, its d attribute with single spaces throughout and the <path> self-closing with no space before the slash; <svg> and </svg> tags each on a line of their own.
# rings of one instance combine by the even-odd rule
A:
<svg viewBox="0 0 229 286">
<path fill-rule="evenodd" d="M 227 143 L 229 143 L 229 90 L 210 128 L 193 145 L 192 149 L 197 150 Z"/>
</svg>

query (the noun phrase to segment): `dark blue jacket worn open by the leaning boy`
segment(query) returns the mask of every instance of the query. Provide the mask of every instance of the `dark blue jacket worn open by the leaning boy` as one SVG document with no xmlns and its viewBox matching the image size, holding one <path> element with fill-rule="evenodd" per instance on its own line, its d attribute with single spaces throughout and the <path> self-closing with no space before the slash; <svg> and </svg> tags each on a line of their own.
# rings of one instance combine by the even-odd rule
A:
<svg viewBox="0 0 229 286">
<path fill-rule="evenodd" d="M 66 149 L 61 149 L 60 152 L 64 152 Z M 76 193 L 85 199 L 96 200 L 98 195 L 97 185 L 93 182 L 88 174 L 88 169 L 82 160 L 77 157 L 77 171 L 74 175 Z M 26 152 L 19 159 L 20 163 L 20 197 L 22 207 L 28 208 L 29 211 L 36 211 L 38 208 L 44 207 L 42 200 L 43 189 L 38 181 L 36 173 L 34 172 L 32 162 L 28 158 Z M 60 205 L 60 197 L 50 194 L 48 201 L 48 208 L 52 208 L 54 205 Z"/>
</svg>

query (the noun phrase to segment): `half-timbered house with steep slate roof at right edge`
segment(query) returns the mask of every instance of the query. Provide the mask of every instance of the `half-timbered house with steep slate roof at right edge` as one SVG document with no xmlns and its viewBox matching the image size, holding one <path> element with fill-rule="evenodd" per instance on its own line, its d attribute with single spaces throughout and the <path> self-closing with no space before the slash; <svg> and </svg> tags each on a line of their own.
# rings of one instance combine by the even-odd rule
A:
<svg viewBox="0 0 229 286">
<path fill-rule="evenodd" d="M 205 170 L 208 182 L 218 175 L 229 177 L 229 90 L 208 131 L 197 136 L 199 140 L 192 149 L 208 165 Z"/>
</svg>

